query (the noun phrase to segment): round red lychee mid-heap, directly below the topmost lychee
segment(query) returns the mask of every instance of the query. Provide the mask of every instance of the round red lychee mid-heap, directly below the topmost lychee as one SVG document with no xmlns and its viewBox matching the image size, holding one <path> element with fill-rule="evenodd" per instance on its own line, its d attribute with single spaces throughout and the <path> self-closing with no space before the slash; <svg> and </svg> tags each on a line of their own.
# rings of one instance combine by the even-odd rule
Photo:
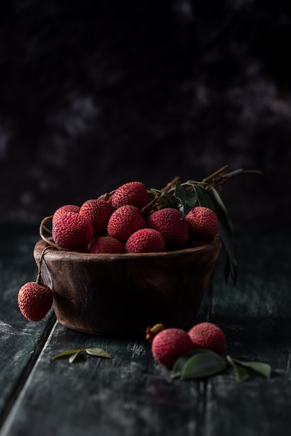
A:
<svg viewBox="0 0 291 436">
<path fill-rule="evenodd" d="M 113 212 L 108 221 L 107 233 L 111 238 L 126 242 L 132 233 L 146 227 L 146 220 L 133 205 L 124 205 Z"/>
</svg>

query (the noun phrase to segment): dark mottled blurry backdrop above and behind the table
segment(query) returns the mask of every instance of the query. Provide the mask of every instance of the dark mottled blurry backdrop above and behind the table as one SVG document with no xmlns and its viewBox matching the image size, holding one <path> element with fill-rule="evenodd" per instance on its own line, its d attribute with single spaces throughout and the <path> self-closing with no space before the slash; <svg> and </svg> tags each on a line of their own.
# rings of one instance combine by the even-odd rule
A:
<svg viewBox="0 0 291 436">
<path fill-rule="evenodd" d="M 227 164 L 234 224 L 290 215 L 291 3 L 2 0 L 0 216 Z"/>
</svg>

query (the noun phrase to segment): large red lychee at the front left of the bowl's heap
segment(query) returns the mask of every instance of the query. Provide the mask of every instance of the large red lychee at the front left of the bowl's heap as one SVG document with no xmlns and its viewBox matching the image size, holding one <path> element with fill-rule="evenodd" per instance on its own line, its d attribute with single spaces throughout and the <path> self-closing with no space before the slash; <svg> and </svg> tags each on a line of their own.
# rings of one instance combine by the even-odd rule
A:
<svg viewBox="0 0 291 436">
<path fill-rule="evenodd" d="M 93 235 L 91 222 L 75 212 L 61 215 L 52 228 L 54 242 L 65 249 L 82 249 L 93 239 Z"/>
</svg>

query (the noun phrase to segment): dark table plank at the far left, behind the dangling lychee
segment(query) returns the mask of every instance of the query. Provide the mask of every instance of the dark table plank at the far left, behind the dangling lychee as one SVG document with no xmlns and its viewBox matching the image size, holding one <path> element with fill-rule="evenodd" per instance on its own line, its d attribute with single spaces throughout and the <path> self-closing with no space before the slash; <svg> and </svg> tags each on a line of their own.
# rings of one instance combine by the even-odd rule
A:
<svg viewBox="0 0 291 436">
<path fill-rule="evenodd" d="M 42 342 L 47 337 L 45 320 L 31 323 L 18 309 L 17 293 L 26 281 L 36 279 L 33 247 L 38 228 L 6 224 L 0 226 L 0 423 L 19 392 Z"/>
</svg>

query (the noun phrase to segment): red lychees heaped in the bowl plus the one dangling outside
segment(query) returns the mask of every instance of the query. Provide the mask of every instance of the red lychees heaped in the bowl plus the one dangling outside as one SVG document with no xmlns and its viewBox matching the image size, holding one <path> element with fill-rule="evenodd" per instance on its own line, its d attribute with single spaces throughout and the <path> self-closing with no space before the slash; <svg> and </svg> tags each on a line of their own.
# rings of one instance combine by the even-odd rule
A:
<svg viewBox="0 0 291 436">
<path fill-rule="evenodd" d="M 111 192 L 86 200 L 81 206 L 63 205 L 52 215 L 52 242 L 58 249 L 89 254 L 157 253 L 209 242 L 218 232 L 217 215 L 200 205 L 186 216 L 179 208 L 150 210 L 148 189 L 142 182 L 127 182 Z M 52 306 L 52 290 L 29 282 L 19 290 L 23 316 L 38 321 Z"/>
</svg>

